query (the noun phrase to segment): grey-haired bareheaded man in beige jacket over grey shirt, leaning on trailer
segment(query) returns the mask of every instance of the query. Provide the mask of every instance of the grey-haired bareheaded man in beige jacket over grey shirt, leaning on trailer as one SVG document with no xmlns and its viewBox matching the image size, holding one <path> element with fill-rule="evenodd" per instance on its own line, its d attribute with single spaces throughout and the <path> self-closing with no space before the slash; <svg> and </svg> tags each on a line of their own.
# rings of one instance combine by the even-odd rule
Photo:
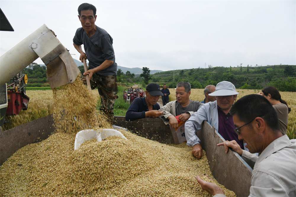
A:
<svg viewBox="0 0 296 197">
<path fill-rule="evenodd" d="M 170 124 L 171 127 L 178 128 L 179 123 L 175 116 L 180 115 L 179 120 L 186 122 L 202 106 L 200 101 L 190 100 L 190 94 L 190 83 L 182 81 L 177 84 L 176 101 L 170 101 L 159 109 L 159 111 L 163 112 L 160 118 L 163 119 L 166 125 Z"/>
</svg>

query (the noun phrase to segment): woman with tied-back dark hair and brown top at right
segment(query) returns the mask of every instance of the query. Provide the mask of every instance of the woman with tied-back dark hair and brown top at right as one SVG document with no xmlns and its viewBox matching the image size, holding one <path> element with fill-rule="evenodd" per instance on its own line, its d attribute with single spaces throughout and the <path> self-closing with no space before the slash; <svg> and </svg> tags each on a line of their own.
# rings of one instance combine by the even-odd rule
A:
<svg viewBox="0 0 296 197">
<path fill-rule="evenodd" d="M 287 134 L 288 114 L 291 112 L 287 102 L 281 99 L 281 94 L 274 86 L 267 86 L 258 94 L 264 96 L 272 104 L 278 115 L 281 133 Z"/>
</svg>

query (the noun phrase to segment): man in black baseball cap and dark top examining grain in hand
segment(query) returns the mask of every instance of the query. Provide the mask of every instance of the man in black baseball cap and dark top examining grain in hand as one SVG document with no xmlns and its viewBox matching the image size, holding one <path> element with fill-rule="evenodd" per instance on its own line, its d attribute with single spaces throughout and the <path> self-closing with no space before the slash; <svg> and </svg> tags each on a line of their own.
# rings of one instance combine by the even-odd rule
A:
<svg viewBox="0 0 296 197">
<path fill-rule="evenodd" d="M 136 98 L 131 103 L 131 106 L 126 112 L 126 120 L 138 120 L 145 117 L 156 118 L 163 114 L 163 112 L 158 111 L 160 109 L 157 103 L 160 96 L 163 93 L 160 91 L 160 86 L 157 83 L 150 83 L 146 87 L 145 91 L 146 97 Z"/>
</svg>

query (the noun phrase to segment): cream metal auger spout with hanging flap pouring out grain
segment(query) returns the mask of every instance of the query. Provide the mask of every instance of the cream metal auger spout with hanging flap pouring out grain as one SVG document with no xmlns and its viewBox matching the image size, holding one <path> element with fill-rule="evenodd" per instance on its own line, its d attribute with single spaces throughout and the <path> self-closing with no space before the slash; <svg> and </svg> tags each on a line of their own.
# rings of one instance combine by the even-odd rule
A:
<svg viewBox="0 0 296 197">
<path fill-rule="evenodd" d="M 45 24 L 0 57 L 0 87 L 38 57 L 51 88 L 73 83 L 79 69 L 69 51 Z"/>
</svg>

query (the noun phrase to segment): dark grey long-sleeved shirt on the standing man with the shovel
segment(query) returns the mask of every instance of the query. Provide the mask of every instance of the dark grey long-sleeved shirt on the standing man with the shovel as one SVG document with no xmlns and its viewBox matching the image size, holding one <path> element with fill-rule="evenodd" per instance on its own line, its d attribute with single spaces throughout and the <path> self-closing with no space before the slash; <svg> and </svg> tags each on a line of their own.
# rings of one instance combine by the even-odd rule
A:
<svg viewBox="0 0 296 197">
<path fill-rule="evenodd" d="M 94 69 L 101 65 L 105 60 L 112 60 L 113 64 L 108 68 L 96 72 L 97 75 L 117 75 L 117 64 L 115 62 L 115 54 L 113 50 L 112 37 L 102 28 L 98 26 L 96 33 L 89 38 L 86 31 L 81 27 L 76 30 L 73 43 L 84 46 L 84 51 L 89 60 L 89 67 Z"/>
</svg>

